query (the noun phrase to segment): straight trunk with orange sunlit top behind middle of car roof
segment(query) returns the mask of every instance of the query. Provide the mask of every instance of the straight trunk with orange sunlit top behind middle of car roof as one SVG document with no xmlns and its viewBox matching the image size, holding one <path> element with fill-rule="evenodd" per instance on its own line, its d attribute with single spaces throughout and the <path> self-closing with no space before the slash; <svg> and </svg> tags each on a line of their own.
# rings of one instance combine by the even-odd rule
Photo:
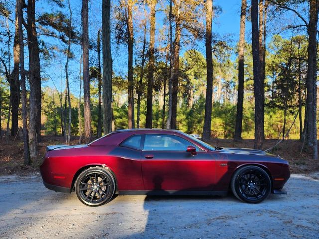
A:
<svg viewBox="0 0 319 239">
<path fill-rule="evenodd" d="M 152 128 L 152 100 L 153 100 L 153 74 L 154 74 L 154 38 L 155 38 L 155 6 L 156 0 L 149 0 L 150 7 L 150 45 L 149 45 L 149 69 L 148 89 L 146 103 L 145 127 Z"/>
</svg>

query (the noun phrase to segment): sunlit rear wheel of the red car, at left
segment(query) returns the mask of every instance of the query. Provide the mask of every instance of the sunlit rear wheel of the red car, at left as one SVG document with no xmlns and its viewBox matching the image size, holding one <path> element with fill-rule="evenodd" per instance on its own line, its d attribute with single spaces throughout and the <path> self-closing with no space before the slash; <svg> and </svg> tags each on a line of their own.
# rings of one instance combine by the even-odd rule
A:
<svg viewBox="0 0 319 239">
<path fill-rule="evenodd" d="M 111 200 L 115 192 L 113 175 L 101 167 L 88 168 L 76 179 L 75 192 L 87 206 L 101 206 Z"/>
</svg>

